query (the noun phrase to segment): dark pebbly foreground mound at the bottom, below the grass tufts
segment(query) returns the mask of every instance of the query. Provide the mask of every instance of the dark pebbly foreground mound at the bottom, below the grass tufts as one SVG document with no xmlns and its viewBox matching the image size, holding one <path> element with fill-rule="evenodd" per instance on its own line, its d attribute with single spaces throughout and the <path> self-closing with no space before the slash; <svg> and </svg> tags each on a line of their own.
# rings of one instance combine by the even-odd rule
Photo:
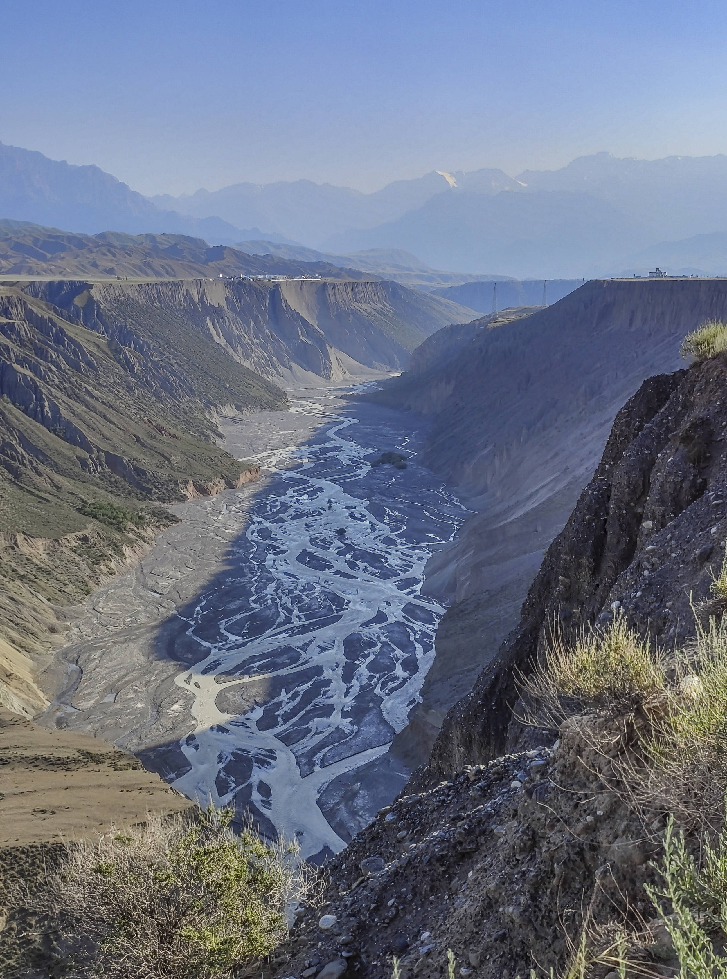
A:
<svg viewBox="0 0 727 979">
<path fill-rule="evenodd" d="M 272 975 L 347 973 L 403 979 L 502 979 L 533 962 L 557 975 L 584 916 L 593 932 L 616 916 L 643 936 L 641 961 L 669 962 L 644 884 L 654 882 L 663 819 L 643 824 L 594 772 L 577 725 L 540 747 L 400 797 L 326 865 L 323 903 L 301 909 Z M 645 920 L 646 919 L 646 920 Z M 642 951 L 642 950 L 640 950 Z M 603 972 L 595 973 L 606 975 Z"/>
</svg>

